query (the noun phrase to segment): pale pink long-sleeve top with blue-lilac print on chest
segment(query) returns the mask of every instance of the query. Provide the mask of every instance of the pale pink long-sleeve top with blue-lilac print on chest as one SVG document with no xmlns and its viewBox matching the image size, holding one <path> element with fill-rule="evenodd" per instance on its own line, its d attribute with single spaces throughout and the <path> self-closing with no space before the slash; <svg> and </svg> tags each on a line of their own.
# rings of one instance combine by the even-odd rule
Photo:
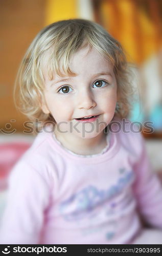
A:
<svg viewBox="0 0 162 256">
<path fill-rule="evenodd" d="M 162 189 L 137 133 L 110 133 L 102 154 L 67 151 L 40 132 L 13 168 L 1 244 L 127 244 L 162 228 Z"/>
</svg>

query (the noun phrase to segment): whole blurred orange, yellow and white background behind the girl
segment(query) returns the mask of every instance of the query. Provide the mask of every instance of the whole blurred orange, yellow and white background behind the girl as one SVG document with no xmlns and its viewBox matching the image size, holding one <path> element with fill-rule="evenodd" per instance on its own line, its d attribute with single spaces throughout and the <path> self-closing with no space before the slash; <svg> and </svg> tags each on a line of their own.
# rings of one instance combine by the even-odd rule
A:
<svg viewBox="0 0 162 256">
<path fill-rule="evenodd" d="M 101 24 L 121 42 L 128 61 L 135 63 L 133 79 L 138 81 L 142 97 L 133 103 L 130 119 L 152 122 L 154 132 L 143 131 L 143 135 L 154 167 L 162 169 L 162 1 L 0 0 L 0 6 L 0 181 L 6 172 L 5 164 L 9 170 L 32 141 L 31 135 L 23 134 L 27 118 L 16 111 L 13 103 L 20 60 L 44 26 L 69 18 L 86 18 Z M 151 140 L 148 142 L 147 138 Z M 3 147 L 3 143 L 22 141 L 27 144 Z"/>
</svg>

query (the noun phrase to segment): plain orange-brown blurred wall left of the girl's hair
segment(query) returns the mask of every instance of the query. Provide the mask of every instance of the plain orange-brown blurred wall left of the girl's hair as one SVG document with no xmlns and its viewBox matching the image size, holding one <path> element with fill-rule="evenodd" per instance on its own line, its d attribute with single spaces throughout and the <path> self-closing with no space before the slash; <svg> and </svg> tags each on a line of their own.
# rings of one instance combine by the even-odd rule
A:
<svg viewBox="0 0 162 256">
<path fill-rule="evenodd" d="M 12 127 L 10 129 L 10 123 L 17 132 L 23 129 L 26 118 L 15 109 L 13 84 L 22 56 L 33 37 L 44 26 L 45 5 L 44 0 L 0 1 L 0 126 L 6 132 L 13 130 Z"/>
</svg>

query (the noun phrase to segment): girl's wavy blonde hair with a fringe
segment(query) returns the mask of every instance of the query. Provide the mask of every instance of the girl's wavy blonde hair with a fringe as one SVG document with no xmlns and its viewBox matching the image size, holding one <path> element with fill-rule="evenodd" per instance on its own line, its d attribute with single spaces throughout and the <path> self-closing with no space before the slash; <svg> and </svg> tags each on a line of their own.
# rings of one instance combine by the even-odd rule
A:
<svg viewBox="0 0 162 256">
<path fill-rule="evenodd" d="M 42 29 L 22 59 L 15 81 L 14 101 L 17 108 L 30 120 L 55 123 L 51 114 L 44 114 L 41 110 L 44 57 L 49 56 L 47 67 L 50 79 L 54 73 L 59 76 L 73 75 L 70 69 L 71 57 L 87 45 L 95 47 L 113 65 L 119 99 L 115 116 L 128 116 L 131 106 L 129 99 L 133 90 L 130 69 L 121 44 L 97 23 L 85 19 L 69 19 Z"/>
</svg>

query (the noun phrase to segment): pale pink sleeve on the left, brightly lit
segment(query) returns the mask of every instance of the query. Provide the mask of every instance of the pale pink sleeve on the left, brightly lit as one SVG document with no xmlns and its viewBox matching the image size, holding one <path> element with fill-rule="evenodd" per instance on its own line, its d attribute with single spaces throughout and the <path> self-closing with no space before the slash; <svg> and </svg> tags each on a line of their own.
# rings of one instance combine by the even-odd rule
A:
<svg viewBox="0 0 162 256">
<path fill-rule="evenodd" d="M 48 204 L 47 181 L 28 163 L 16 164 L 9 177 L 0 244 L 38 244 Z"/>
</svg>

